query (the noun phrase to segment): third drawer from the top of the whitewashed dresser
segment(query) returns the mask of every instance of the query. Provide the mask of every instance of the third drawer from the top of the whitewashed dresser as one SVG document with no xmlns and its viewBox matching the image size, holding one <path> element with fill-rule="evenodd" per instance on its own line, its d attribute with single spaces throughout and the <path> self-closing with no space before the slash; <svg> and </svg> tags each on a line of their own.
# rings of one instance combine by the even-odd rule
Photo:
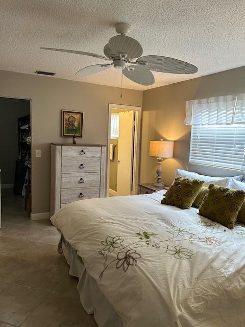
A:
<svg viewBox="0 0 245 327">
<path fill-rule="evenodd" d="M 100 186 L 100 173 L 62 174 L 61 189 L 86 188 Z"/>
</svg>

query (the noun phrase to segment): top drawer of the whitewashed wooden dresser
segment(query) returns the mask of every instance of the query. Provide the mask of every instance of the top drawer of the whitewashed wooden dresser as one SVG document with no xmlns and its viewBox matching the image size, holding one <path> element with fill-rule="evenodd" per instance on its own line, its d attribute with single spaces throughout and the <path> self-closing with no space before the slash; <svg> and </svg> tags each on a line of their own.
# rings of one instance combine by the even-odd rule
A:
<svg viewBox="0 0 245 327">
<path fill-rule="evenodd" d="M 62 158 L 100 158 L 101 147 L 62 147 Z"/>
</svg>

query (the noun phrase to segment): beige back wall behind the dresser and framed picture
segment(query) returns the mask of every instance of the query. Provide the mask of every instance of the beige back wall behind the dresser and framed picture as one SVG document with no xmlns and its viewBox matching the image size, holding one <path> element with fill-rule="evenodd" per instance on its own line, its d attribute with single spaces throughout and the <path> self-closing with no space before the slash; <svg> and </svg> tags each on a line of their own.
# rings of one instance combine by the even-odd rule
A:
<svg viewBox="0 0 245 327">
<path fill-rule="evenodd" d="M 81 144 L 107 144 L 108 103 L 141 106 L 142 91 L 0 71 L 0 96 L 32 100 L 32 213 L 50 211 L 50 143 L 71 143 L 60 137 L 61 109 L 84 112 Z M 35 150 L 41 149 L 41 158 Z"/>
</svg>

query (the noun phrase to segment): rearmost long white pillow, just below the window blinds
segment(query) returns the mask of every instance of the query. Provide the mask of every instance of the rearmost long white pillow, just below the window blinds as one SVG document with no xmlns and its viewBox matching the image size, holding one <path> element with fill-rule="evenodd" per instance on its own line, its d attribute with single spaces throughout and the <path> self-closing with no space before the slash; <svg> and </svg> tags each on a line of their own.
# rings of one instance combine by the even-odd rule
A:
<svg viewBox="0 0 245 327">
<path fill-rule="evenodd" d="M 212 176 L 206 176 L 206 175 L 200 175 L 198 173 L 194 172 L 188 172 L 186 170 L 182 169 L 176 169 L 175 170 L 176 176 L 181 177 L 187 177 L 187 178 L 196 178 L 204 180 L 203 186 L 208 186 L 209 184 L 214 183 L 218 186 L 226 186 L 229 183 L 229 179 L 234 178 L 235 180 L 242 180 L 243 176 L 234 176 L 234 177 L 212 177 Z M 228 187 L 228 186 L 227 186 Z"/>
</svg>

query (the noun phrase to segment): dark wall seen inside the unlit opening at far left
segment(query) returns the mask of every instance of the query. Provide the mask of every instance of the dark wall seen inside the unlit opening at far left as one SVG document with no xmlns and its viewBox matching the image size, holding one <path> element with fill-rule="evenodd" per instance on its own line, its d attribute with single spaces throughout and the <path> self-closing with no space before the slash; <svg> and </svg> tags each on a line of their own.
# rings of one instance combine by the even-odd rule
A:
<svg viewBox="0 0 245 327">
<path fill-rule="evenodd" d="M 30 114 L 30 101 L 0 97 L 1 184 L 13 184 L 18 159 L 18 118 Z"/>
</svg>

